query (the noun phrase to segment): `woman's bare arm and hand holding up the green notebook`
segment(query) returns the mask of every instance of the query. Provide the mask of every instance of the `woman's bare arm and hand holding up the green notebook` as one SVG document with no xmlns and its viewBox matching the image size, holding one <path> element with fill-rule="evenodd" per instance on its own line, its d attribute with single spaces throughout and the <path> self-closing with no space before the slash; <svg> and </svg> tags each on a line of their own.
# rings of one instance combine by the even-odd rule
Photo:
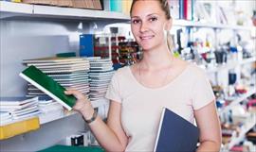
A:
<svg viewBox="0 0 256 152">
<path fill-rule="evenodd" d="M 84 119 L 90 119 L 94 109 L 88 99 L 80 92 L 69 90 L 66 94 L 73 94 L 77 98 L 77 103 L 73 107 L 82 113 Z M 99 116 L 92 123 L 88 124 L 95 138 L 101 146 L 107 151 L 124 151 L 128 143 L 128 138 L 125 135 L 120 123 L 121 104 L 111 101 L 108 123 L 105 124 Z"/>
</svg>

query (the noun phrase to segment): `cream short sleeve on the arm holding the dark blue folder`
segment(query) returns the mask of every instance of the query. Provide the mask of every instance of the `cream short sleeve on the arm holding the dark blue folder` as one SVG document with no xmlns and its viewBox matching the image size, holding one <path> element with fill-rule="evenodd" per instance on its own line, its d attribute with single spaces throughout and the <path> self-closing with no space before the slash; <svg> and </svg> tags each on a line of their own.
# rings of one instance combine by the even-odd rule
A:
<svg viewBox="0 0 256 152">
<path fill-rule="evenodd" d="M 210 81 L 204 71 L 200 71 L 192 85 L 192 107 L 199 110 L 215 99 Z"/>
</svg>

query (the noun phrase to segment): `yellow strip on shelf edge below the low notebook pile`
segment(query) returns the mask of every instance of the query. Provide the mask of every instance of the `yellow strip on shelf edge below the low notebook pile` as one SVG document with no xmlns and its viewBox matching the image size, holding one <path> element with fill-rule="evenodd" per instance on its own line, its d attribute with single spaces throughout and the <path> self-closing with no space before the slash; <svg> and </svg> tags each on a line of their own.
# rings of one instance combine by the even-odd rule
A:
<svg viewBox="0 0 256 152">
<path fill-rule="evenodd" d="M 40 127 L 39 118 L 33 117 L 27 120 L 15 122 L 0 127 L 0 140 L 38 129 Z"/>
</svg>

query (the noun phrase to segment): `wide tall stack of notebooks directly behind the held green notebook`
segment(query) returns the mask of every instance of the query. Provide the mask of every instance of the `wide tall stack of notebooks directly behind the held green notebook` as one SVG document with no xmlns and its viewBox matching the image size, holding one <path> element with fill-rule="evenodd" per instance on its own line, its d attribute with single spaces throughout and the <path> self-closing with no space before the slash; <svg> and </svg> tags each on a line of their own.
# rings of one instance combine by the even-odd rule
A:
<svg viewBox="0 0 256 152">
<path fill-rule="evenodd" d="M 85 95 L 89 93 L 89 60 L 85 58 L 44 58 L 26 59 L 27 66 L 34 65 L 50 76 L 65 89 L 76 89 Z M 34 85 L 28 83 L 27 96 L 43 96 Z"/>
</svg>

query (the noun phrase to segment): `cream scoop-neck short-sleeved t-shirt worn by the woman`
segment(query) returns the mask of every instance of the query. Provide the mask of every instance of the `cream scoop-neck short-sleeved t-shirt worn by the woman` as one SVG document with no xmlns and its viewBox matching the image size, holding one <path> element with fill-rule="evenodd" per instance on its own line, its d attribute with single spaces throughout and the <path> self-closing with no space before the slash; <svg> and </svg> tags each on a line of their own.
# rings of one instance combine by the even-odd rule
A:
<svg viewBox="0 0 256 152">
<path fill-rule="evenodd" d="M 129 137 L 125 151 L 133 152 L 154 150 L 163 107 L 193 124 L 193 110 L 210 104 L 214 94 L 204 70 L 193 64 L 172 82 L 156 89 L 141 85 L 127 66 L 113 76 L 106 98 L 121 104 L 121 125 Z"/>
</svg>

